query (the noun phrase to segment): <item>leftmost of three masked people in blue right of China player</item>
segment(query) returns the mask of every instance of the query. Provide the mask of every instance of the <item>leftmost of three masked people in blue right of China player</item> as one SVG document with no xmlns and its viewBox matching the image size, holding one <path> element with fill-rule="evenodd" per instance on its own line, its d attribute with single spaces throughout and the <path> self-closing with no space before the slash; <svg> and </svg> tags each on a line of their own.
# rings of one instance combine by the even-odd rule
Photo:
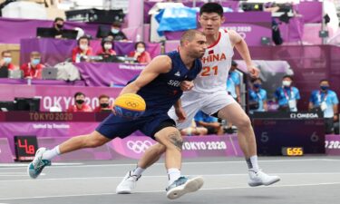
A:
<svg viewBox="0 0 340 204">
<path fill-rule="evenodd" d="M 267 112 L 267 92 L 261 88 L 262 80 L 253 79 L 249 89 L 249 113 Z"/>
</svg>

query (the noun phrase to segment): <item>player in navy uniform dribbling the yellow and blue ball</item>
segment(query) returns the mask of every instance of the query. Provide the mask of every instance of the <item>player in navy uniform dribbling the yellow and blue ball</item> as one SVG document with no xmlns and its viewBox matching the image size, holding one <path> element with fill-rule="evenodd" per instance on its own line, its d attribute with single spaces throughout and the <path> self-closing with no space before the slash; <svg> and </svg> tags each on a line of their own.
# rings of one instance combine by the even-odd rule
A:
<svg viewBox="0 0 340 204">
<path fill-rule="evenodd" d="M 121 90 L 120 94 L 137 93 L 145 100 L 146 111 L 140 118 L 129 121 L 112 113 L 90 134 L 73 137 L 50 151 L 40 148 L 28 165 L 29 176 L 37 178 L 57 155 L 99 147 L 116 137 L 124 138 L 139 130 L 165 147 L 169 174 L 167 197 L 177 199 L 198 190 L 203 185 L 201 177 L 188 179 L 180 175 L 182 138 L 168 112 L 174 105 L 179 117 L 183 117 L 180 82 L 196 78 L 202 68 L 199 58 L 206 48 L 206 37 L 201 32 L 189 30 L 182 34 L 179 51 L 154 58 L 139 76 Z"/>
</svg>

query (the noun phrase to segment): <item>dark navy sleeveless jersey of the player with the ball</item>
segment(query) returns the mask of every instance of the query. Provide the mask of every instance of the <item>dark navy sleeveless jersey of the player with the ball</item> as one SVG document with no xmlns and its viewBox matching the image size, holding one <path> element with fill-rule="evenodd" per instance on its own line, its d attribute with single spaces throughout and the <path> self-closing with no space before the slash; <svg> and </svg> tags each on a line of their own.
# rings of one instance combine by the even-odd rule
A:
<svg viewBox="0 0 340 204">
<path fill-rule="evenodd" d="M 202 68 L 199 59 L 195 60 L 191 69 L 188 69 L 180 59 L 179 52 L 173 51 L 167 55 L 172 62 L 170 72 L 160 73 L 156 79 L 137 92 L 146 102 L 146 112 L 143 117 L 168 112 L 183 93 L 180 90 L 180 83 L 194 80 Z"/>
</svg>

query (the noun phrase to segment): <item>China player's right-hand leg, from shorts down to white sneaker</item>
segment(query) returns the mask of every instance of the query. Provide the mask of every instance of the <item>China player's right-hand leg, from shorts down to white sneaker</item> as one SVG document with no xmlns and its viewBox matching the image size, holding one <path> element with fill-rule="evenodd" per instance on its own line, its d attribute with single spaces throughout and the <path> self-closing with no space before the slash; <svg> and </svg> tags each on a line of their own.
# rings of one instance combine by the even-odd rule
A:
<svg viewBox="0 0 340 204">
<path fill-rule="evenodd" d="M 270 185 L 278 180 L 277 176 L 269 176 L 259 169 L 257 163 L 257 143 L 254 130 L 246 112 L 237 102 L 228 104 L 219 111 L 219 118 L 231 121 L 238 127 L 238 143 L 248 164 L 249 186 Z"/>
</svg>

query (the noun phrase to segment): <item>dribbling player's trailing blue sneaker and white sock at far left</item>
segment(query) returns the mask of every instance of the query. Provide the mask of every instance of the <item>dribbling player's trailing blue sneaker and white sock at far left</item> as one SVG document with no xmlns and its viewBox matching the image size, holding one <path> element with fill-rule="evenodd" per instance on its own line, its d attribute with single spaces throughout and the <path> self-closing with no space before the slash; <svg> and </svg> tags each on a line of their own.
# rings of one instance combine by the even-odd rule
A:
<svg viewBox="0 0 340 204">
<path fill-rule="evenodd" d="M 32 179 L 36 179 L 44 170 L 45 166 L 51 166 L 51 160 L 43 160 L 43 153 L 46 148 L 39 148 L 35 153 L 34 160 L 28 164 L 27 173 Z"/>
</svg>

